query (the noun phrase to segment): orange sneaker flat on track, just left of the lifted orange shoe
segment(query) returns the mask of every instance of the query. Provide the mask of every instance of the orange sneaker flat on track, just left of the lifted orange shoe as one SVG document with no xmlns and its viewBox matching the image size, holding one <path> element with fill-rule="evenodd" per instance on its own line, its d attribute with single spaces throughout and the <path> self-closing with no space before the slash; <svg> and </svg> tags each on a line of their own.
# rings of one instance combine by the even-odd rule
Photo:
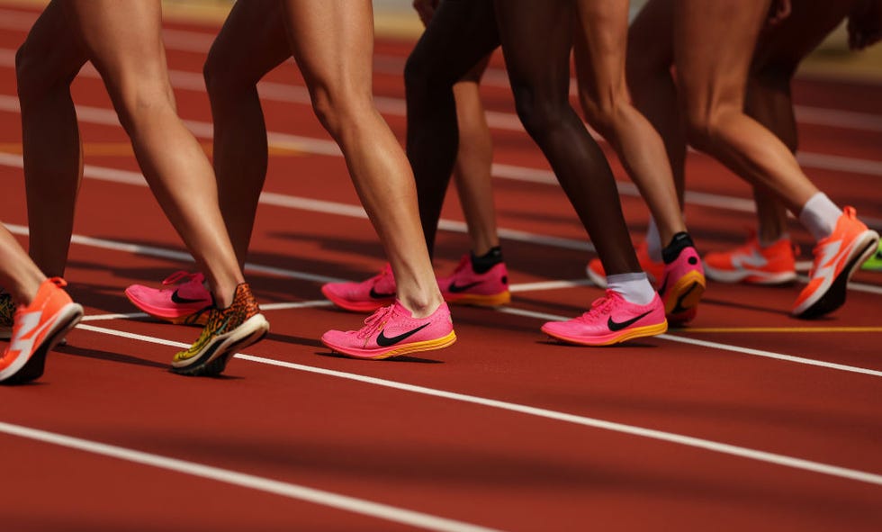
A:
<svg viewBox="0 0 882 532">
<path fill-rule="evenodd" d="M 797 257 L 790 239 L 763 248 L 751 231 L 743 246 L 708 253 L 705 275 L 720 283 L 786 284 L 797 279 Z"/>
</svg>

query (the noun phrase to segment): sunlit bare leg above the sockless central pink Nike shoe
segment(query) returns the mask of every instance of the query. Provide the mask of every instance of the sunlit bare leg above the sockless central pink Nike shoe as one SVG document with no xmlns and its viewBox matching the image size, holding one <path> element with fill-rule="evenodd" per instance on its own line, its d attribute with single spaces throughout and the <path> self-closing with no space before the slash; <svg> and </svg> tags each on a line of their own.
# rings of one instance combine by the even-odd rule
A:
<svg viewBox="0 0 882 532">
<path fill-rule="evenodd" d="M 356 192 L 392 264 L 398 298 L 415 317 L 441 304 L 420 231 L 413 175 L 374 107 L 373 13 L 360 0 L 284 0 L 294 57 L 316 115 L 343 150 Z"/>
</svg>

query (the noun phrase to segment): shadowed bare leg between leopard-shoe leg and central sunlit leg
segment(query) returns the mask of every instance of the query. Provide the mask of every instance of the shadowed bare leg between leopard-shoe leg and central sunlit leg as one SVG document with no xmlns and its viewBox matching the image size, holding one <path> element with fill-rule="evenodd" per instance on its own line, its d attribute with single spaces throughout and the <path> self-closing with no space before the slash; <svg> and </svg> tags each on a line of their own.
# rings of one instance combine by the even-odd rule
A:
<svg viewBox="0 0 882 532">
<path fill-rule="evenodd" d="M 278 0 L 233 5 L 205 61 L 220 212 L 244 267 L 266 180 L 266 124 L 257 82 L 291 57 Z"/>
</svg>

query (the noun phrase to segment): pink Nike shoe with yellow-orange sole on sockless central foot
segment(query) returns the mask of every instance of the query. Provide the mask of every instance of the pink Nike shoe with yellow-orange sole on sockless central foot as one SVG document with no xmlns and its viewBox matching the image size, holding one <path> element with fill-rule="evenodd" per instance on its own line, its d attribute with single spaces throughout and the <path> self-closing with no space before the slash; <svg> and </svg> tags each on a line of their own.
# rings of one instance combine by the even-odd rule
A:
<svg viewBox="0 0 882 532">
<path fill-rule="evenodd" d="M 321 343 L 354 358 L 380 360 L 450 346 L 456 341 L 447 303 L 428 318 L 414 318 L 397 300 L 375 311 L 360 330 L 329 330 Z"/>
</svg>

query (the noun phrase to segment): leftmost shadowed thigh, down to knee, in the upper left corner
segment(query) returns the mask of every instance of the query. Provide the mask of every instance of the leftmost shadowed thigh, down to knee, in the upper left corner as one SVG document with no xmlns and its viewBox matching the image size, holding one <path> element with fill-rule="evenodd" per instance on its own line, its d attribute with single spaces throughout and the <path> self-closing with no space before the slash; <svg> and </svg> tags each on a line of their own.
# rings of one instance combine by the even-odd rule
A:
<svg viewBox="0 0 882 532">
<path fill-rule="evenodd" d="M 67 18 L 63 3 L 52 0 L 31 27 L 19 61 L 23 83 L 52 85 L 58 80 L 72 80 L 88 60 L 85 47 L 74 24 Z"/>
</svg>

